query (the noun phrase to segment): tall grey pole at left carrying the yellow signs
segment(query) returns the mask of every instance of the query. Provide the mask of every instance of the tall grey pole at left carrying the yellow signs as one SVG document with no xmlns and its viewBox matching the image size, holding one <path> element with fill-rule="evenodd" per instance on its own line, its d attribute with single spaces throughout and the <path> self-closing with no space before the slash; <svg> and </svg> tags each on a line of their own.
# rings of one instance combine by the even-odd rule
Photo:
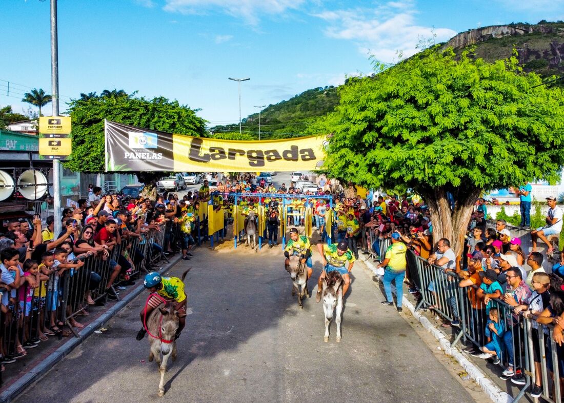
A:
<svg viewBox="0 0 564 403">
<path fill-rule="evenodd" d="M 59 116 L 59 47 L 57 34 L 57 0 L 51 0 L 51 105 L 52 116 Z M 54 232 L 61 232 L 61 180 L 60 162 L 53 158 L 53 214 L 55 215 Z"/>
</svg>

